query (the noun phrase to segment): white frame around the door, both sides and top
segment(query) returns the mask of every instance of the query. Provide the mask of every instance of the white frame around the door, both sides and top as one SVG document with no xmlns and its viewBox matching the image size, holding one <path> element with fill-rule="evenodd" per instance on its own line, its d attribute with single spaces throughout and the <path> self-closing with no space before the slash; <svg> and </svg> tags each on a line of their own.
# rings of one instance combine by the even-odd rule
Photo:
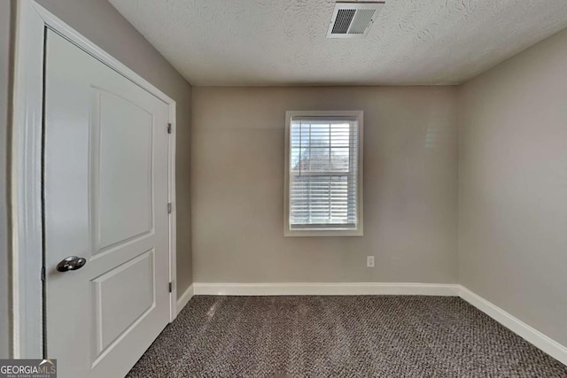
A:
<svg viewBox="0 0 567 378">
<path fill-rule="evenodd" d="M 175 274 L 175 101 L 80 35 L 35 0 L 17 3 L 12 125 L 12 357 L 43 357 L 43 57 L 46 29 L 157 96 L 169 108 L 168 202 L 170 321 L 177 315 Z M 164 125 L 167 127 L 167 125 Z M 148 345 L 149 346 L 149 345 Z M 47 356 L 45 356 L 47 357 Z"/>
</svg>

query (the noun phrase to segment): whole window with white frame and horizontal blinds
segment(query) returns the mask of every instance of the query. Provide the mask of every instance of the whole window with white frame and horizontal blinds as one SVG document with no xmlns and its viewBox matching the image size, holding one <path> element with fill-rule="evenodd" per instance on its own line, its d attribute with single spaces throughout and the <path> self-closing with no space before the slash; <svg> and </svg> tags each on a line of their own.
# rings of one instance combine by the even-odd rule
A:
<svg viewBox="0 0 567 378">
<path fill-rule="evenodd" d="M 286 236 L 362 235 L 362 112 L 286 112 Z"/>
</svg>

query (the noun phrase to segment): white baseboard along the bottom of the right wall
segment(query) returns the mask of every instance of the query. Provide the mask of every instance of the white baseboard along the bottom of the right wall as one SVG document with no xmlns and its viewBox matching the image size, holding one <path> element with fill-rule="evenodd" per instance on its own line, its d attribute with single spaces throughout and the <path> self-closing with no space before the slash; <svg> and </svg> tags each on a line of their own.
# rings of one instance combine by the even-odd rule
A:
<svg viewBox="0 0 567 378">
<path fill-rule="evenodd" d="M 509 312 L 505 312 L 497 305 L 487 301 L 485 298 L 478 296 L 470 291 L 470 289 L 461 285 L 458 286 L 460 287 L 458 291 L 459 297 L 462 297 L 462 299 L 469 302 L 470 305 L 474 305 L 478 308 L 478 310 L 485 312 L 486 315 L 493 318 L 493 320 L 498 321 L 502 326 L 509 328 L 509 330 L 518 336 L 521 336 L 527 342 L 540 348 L 541 351 L 545 351 L 554 359 L 557 359 L 567 365 L 567 347 L 557 343 L 555 340 L 542 334 L 537 329 L 528 326 L 522 320 L 512 316 Z"/>
</svg>

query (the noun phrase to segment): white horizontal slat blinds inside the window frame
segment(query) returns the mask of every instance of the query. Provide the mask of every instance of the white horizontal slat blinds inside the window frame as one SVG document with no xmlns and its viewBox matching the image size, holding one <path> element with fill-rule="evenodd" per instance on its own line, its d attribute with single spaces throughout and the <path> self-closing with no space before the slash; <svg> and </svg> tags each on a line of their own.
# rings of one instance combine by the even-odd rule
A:
<svg viewBox="0 0 567 378">
<path fill-rule="evenodd" d="M 291 119 L 291 230 L 357 227 L 358 143 L 356 118 Z"/>
</svg>

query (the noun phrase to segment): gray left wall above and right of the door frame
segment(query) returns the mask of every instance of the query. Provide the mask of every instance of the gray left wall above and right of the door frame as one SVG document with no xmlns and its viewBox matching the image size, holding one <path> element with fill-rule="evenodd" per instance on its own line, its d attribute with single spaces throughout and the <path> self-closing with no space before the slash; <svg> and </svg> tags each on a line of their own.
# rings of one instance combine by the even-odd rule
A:
<svg viewBox="0 0 567 378">
<path fill-rule="evenodd" d="M 192 283 L 190 225 L 191 87 L 106 0 L 39 0 L 90 41 L 172 97 L 177 103 L 177 295 Z"/>
</svg>

